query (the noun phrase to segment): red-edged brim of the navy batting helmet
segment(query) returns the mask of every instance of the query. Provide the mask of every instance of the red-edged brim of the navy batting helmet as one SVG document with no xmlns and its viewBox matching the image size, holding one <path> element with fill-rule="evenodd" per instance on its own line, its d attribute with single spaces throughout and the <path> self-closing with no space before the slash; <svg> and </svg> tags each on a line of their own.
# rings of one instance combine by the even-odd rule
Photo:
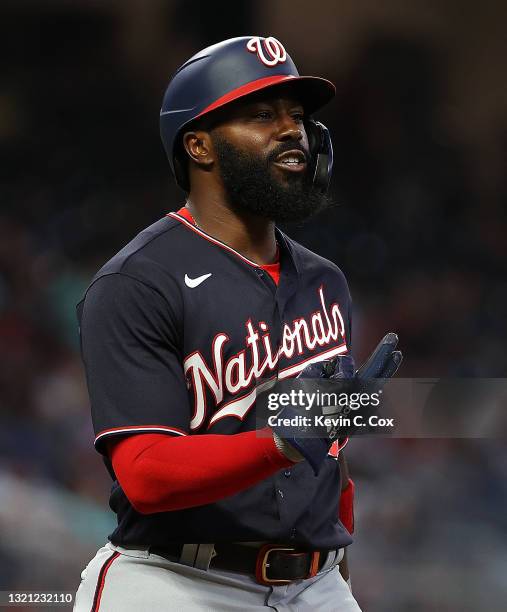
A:
<svg viewBox="0 0 507 612">
<path fill-rule="evenodd" d="M 307 114 L 312 114 L 319 110 L 336 95 L 336 87 L 327 79 L 313 76 L 276 75 L 250 81 L 229 91 L 224 96 L 218 98 L 218 100 L 209 104 L 197 117 L 202 117 L 211 111 L 250 94 L 282 85 L 288 86 L 294 92 L 294 96 L 301 101 Z"/>
</svg>

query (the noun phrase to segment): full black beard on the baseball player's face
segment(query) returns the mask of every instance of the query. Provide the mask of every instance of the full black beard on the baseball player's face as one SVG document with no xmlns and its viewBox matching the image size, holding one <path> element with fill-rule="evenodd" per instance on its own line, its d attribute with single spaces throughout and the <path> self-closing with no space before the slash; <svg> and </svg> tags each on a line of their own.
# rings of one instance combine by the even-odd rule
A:
<svg viewBox="0 0 507 612">
<path fill-rule="evenodd" d="M 273 174 L 272 162 L 285 151 L 297 149 L 308 160 L 298 141 L 282 143 L 268 158 L 247 154 L 217 134 L 213 145 L 227 199 L 236 210 L 281 223 L 304 221 L 328 206 L 328 198 L 314 189 L 310 170 L 288 172 L 285 184 Z"/>
</svg>

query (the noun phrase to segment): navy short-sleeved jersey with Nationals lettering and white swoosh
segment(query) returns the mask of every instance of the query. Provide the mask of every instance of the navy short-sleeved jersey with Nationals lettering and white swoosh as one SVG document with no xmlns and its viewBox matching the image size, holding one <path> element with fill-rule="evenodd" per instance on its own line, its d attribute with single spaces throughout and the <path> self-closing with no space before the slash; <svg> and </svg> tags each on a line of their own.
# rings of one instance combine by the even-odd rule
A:
<svg viewBox="0 0 507 612">
<path fill-rule="evenodd" d="M 278 229 L 276 239 L 278 286 L 259 265 L 171 213 L 103 266 L 79 303 L 95 447 L 115 480 L 113 543 L 351 543 L 338 520 L 340 470 L 332 456 L 318 477 L 304 461 L 215 503 L 144 515 L 106 454 L 111 436 L 254 430 L 256 379 L 293 377 L 350 350 L 342 272 Z"/>
</svg>

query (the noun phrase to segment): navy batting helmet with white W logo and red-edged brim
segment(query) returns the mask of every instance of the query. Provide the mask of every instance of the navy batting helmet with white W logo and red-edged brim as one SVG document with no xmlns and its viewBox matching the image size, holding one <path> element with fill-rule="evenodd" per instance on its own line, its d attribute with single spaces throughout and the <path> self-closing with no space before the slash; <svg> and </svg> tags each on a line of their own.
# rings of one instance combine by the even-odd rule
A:
<svg viewBox="0 0 507 612">
<path fill-rule="evenodd" d="M 335 86 L 326 79 L 300 76 L 276 38 L 242 36 L 203 49 L 187 60 L 171 79 L 160 110 L 160 135 L 178 185 L 189 191 L 186 167 L 178 159 L 178 137 L 185 126 L 224 106 L 267 87 L 290 83 L 309 115 L 329 102 Z M 327 191 L 333 166 L 328 130 L 305 120 L 313 163 L 313 182 Z"/>
</svg>

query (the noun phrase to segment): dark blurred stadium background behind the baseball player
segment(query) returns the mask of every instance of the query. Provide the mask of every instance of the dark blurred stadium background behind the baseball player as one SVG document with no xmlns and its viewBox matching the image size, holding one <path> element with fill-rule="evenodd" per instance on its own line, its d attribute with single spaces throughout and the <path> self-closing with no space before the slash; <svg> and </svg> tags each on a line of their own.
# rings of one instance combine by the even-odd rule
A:
<svg viewBox="0 0 507 612">
<path fill-rule="evenodd" d="M 356 359 L 395 330 L 405 377 L 506 375 L 506 18 L 491 0 L 1 2 L 0 590 L 75 590 L 111 530 L 74 306 L 181 206 L 158 111 L 208 44 L 273 35 L 338 86 L 320 117 L 340 206 L 290 232 L 346 273 Z M 365 611 L 507 609 L 503 441 L 347 451 Z"/>
</svg>

